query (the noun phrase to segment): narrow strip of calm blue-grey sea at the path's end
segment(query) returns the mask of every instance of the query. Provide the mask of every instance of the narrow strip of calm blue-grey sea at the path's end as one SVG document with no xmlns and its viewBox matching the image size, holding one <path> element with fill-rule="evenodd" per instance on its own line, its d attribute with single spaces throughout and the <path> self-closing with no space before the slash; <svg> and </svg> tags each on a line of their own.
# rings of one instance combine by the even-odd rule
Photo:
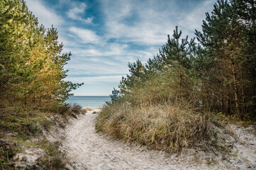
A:
<svg viewBox="0 0 256 170">
<path fill-rule="evenodd" d="M 89 106 L 90 108 L 101 108 L 106 101 L 111 101 L 110 96 L 69 96 L 67 103 L 77 103 L 82 108 Z"/>
</svg>

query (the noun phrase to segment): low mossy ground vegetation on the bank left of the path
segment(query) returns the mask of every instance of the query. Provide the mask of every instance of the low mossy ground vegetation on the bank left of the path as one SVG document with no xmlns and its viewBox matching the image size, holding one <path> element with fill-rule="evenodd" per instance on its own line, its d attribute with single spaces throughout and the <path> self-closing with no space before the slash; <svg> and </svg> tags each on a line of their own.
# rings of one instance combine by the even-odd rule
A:
<svg viewBox="0 0 256 170">
<path fill-rule="evenodd" d="M 60 152 L 60 142 L 49 142 L 43 132 L 50 131 L 52 125 L 64 128 L 72 114 L 83 113 L 81 106 L 66 105 L 65 113 L 28 111 L 16 108 L 2 108 L 1 111 L 1 140 L 0 167 L 1 169 L 16 169 L 13 157 L 27 148 L 43 149 L 45 154 L 35 165 L 27 165 L 30 169 L 62 169 L 67 163 L 65 153 Z M 54 118 L 54 119 L 52 119 Z M 62 123 L 64 122 L 64 123 Z"/>
</svg>

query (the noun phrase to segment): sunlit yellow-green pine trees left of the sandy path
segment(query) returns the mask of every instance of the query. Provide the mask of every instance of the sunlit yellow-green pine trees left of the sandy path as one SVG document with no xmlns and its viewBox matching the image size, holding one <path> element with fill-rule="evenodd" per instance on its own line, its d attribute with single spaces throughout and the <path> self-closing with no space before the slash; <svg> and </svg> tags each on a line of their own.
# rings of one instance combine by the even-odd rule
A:
<svg viewBox="0 0 256 170">
<path fill-rule="evenodd" d="M 71 53 L 61 54 L 56 28 L 38 26 L 23 0 L 0 2 L 0 105 L 45 106 L 64 103 L 82 84 L 64 81 Z"/>
</svg>

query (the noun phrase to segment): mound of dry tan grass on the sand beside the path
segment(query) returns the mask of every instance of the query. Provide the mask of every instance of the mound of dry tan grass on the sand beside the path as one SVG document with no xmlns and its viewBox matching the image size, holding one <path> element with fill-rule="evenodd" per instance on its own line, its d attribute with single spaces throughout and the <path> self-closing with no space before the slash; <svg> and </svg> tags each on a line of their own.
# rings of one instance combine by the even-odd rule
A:
<svg viewBox="0 0 256 170">
<path fill-rule="evenodd" d="M 126 103 L 105 106 L 96 121 L 101 131 L 150 149 L 177 152 L 210 137 L 206 115 L 181 106 L 130 107 Z"/>
</svg>

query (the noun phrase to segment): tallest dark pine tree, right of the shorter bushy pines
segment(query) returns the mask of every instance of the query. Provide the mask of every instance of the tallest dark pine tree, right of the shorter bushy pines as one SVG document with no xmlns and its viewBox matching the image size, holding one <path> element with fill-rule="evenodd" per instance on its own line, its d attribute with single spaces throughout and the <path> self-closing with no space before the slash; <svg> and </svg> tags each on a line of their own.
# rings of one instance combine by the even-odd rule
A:
<svg viewBox="0 0 256 170">
<path fill-rule="evenodd" d="M 250 103 L 251 89 L 247 86 L 247 26 L 239 15 L 235 1 L 217 1 L 212 15 L 206 13 L 202 29 L 196 36 L 206 48 L 212 67 L 208 69 L 213 76 L 211 86 L 216 89 L 212 95 L 217 103 L 215 108 L 223 108 L 244 118 Z M 243 11 L 243 9 L 242 9 Z M 247 92 L 246 92 L 247 91 Z"/>
</svg>

